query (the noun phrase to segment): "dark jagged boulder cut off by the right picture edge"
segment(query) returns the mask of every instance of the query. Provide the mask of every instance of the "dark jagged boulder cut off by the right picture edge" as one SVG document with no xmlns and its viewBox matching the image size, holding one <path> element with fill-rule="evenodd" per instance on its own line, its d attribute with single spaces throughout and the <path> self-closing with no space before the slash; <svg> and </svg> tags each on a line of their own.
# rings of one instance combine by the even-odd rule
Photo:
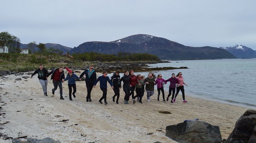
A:
<svg viewBox="0 0 256 143">
<path fill-rule="evenodd" d="M 247 110 L 224 143 L 256 143 L 256 111 Z"/>
</svg>

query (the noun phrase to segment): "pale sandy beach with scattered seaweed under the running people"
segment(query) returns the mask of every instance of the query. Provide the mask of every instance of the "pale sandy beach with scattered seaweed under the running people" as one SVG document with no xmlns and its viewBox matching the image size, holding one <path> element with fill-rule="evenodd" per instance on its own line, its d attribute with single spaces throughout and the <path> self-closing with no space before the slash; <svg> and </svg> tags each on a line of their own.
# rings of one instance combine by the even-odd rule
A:
<svg viewBox="0 0 256 143">
<path fill-rule="evenodd" d="M 27 72 L 23 76 L 26 75 Z M 78 76 L 80 73 L 76 73 Z M 67 73 L 65 72 L 65 77 Z M 97 76 L 101 74 L 97 73 Z M 151 102 L 147 102 L 146 93 L 142 103 L 124 104 L 124 92 L 120 89 L 119 104 L 112 101 L 113 90 L 108 84 L 107 105 L 100 104 L 102 96 L 100 83 L 92 90 L 93 102 L 86 102 L 85 82 L 76 82 L 77 93 L 73 101 L 68 97 L 68 83 L 63 83 L 63 97 L 60 100 L 59 88 L 51 97 L 53 83 L 48 80 L 48 97 L 43 95 L 37 74 L 33 78 L 7 75 L 0 78 L 1 133 L 9 137 L 43 139 L 46 137 L 60 142 L 175 142 L 165 136 L 165 127 L 183 122 L 186 119 L 199 118 L 201 121 L 219 126 L 222 139 L 228 138 L 236 120 L 248 108 L 224 104 L 205 99 L 186 96 L 182 103 L 178 95 L 176 102 L 157 101 L 157 91 Z M 185 89 L 186 94 L 186 89 Z M 168 95 L 168 91 L 165 91 Z M 166 98 L 165 96 L 165 98 Z M 160 99 L 161 99 L 160 95 Z M 6 103 L 6 104 L 5 104 Z M 170 111 L 172 114 L 161 114 Z M 62 121 L 67 120 L 67 121 Z M 0 142 L 11 140 L 0 139 Z"/>
</svg>

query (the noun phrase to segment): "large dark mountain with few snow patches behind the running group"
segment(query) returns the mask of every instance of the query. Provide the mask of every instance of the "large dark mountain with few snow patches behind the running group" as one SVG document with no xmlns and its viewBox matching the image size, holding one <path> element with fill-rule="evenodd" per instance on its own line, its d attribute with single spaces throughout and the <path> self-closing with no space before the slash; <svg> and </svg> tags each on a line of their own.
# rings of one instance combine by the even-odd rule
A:
<svg viewBox="0 0 256 143">
<path fill-rule="evenodd" d="M 235 58 L 224 49 L 217 47 L 190 47 L 165 38 L 146 34 L 131 35 L 111 42 L 85 42 L 71 49 L 70 53 L 97 52 L 104 54 L 149 53 L 160 59 L 218 59 Z"/>
</svg>

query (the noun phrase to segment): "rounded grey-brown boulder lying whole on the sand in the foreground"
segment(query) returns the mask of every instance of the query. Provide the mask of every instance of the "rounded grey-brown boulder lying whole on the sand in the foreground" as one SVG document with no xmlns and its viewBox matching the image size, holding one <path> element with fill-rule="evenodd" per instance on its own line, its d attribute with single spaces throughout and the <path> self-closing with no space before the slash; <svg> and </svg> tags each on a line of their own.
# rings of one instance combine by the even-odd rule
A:
<svg viewBox="0 0 256 143">
<path fill-rule="evenodd" d="M 199 120 L 166 126 L 165 135 L 179 143 L 220 143 L 222 141 L 219 126 L 212 126 Z"/>
</svg>

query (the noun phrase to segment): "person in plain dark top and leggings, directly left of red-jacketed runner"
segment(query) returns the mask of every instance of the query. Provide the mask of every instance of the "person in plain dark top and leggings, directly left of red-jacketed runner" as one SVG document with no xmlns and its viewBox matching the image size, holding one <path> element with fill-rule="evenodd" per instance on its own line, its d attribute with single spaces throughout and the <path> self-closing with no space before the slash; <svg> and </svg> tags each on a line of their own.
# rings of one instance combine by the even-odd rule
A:
<svg viewBox="0 0 256 143">
<path fill-rule="evenodd" d="M 129 72 L 125 71 L 124 72 L 124 76 L 121 77 L 120 79 L 120 84 L 123 81 L 123 90 L 125 92 L 125 100 L 124 103 L 125 104 L 129 104 L 128 100 L 129 100 L 129 96 L 130 96 L 130 91 L 131 91 L 131 87 L 130 87 L 130 76 L 129 76 Z"/>
</svg>

